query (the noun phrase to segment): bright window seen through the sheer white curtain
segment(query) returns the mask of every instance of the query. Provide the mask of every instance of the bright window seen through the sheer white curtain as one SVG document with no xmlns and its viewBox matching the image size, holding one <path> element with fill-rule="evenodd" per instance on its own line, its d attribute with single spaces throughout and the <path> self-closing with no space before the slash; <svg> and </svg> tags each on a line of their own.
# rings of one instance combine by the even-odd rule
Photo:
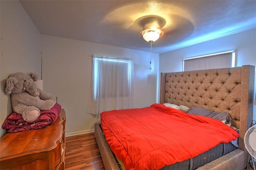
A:
<svg viewBox="0 0 256 170">
<path fill-rule="evenodd" d="M 94 100 L 129 97 L 131 65 L 132 60 L 93 57 Z"/>
</svg>

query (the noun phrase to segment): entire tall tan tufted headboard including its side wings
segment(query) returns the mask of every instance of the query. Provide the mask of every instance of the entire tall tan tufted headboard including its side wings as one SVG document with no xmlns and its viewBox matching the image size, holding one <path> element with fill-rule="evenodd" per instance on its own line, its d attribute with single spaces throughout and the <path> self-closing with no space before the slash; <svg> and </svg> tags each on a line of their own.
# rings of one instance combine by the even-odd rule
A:
<svg viewBox="0 0 256 170">
<path fill-rule="evenodd" d="M 160 103 L 228 112 L 232 126 L 240 129 L 239 149 L 246 151 L 244 135 L 252 125 L 254 74 L 252 65 L 161 73 Z"/>
</svg>

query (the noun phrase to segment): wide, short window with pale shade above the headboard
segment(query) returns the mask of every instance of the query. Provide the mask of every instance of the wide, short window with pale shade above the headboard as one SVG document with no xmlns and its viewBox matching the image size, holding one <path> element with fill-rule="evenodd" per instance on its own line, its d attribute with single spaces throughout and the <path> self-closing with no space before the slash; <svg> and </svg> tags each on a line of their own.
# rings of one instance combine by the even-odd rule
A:
<svg viewBox="0 0 256 170">
<path fill-rule="evenodd" d="M 234 67 L 236 51 L 225 51 L 183 59 L 183 71 Z"/>
</svg>

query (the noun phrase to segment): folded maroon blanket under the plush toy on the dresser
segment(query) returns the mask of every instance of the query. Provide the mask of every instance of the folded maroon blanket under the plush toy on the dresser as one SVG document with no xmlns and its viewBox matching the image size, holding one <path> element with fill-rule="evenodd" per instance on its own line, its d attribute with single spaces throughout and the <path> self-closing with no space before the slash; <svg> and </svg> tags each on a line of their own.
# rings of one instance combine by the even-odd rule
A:
<svg viewBox="0 0 256 170">
<path fill-rule="evenodd" d="M 32 122 L 25 121 L 22 115 L 13 112 L 4 120 L 2 125 L 9 133 L 42 129 L 54 123 L 61 111 L 60 104 L 56 103 L 50 110 L 41 110 L 40 116 Z"/>
</svg>

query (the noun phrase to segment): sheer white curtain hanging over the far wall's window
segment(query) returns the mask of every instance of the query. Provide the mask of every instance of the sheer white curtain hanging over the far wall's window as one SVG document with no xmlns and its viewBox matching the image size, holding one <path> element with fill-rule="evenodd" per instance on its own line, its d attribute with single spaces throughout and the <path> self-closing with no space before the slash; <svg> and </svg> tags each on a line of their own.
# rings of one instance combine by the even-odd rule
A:
<svg viewBox="0 0 256 170">
<path fill-rule="evenodd" d="M 133 107 L 132 59 L 93 56 L 87 113 Z"/>
</svg>

